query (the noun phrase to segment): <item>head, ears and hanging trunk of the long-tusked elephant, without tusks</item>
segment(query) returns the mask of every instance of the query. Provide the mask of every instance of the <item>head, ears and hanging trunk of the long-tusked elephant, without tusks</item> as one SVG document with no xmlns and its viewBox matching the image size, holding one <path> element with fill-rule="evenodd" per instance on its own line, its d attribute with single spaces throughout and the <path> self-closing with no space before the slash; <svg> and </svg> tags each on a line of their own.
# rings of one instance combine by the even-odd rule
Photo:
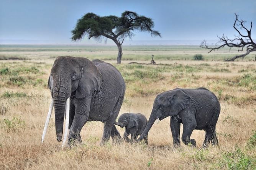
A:
<svg viewBox="0 0 256 170">
<path fill-rule="evenodd" d="M 62 141 L 66 100 L 71 96 L 82 99 L 98 90 L 101 83 L 102 76 L 90 60 L 70 56 L 56 58 L 48 85 L 55 109 L 57 141 Z"/>
</svg>

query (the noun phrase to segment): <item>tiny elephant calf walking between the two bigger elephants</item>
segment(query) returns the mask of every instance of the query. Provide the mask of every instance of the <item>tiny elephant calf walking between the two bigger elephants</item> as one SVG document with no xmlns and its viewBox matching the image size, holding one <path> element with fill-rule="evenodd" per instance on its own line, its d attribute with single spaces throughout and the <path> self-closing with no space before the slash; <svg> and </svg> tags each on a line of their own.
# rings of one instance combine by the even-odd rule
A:
<svg viewBox="0 0 256 170">
<path fill-rule="evenodd" d="M 126 142 L 129 142 L 128 136 L 131 134 L 131 142 L 135 141 L 138 138 L 138 135 L 141 135 L 148 123 L 147 118 L 141 113 L 123 113 L 118 122 L 115 122 L 115 125 L 120 126 L 121 128 L 125 127 L 125 133 L 123 138 Z M 148 144 L 148 136 L 144 136 L 144 141 Z"/>
</svg>

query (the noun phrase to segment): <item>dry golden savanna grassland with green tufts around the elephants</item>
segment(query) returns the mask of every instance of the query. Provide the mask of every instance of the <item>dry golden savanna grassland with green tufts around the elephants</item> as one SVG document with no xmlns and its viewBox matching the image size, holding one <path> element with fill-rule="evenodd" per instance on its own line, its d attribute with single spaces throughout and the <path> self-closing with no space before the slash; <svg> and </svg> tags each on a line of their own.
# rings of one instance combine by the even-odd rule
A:
<svg viewBox="0 0 256 170">
<path fill-rule="evenodd" d="M 193 60 L 195 54 L 203 60 Z M 207 54 L 196 46 L 123 47 L 116 65 L 116 47 L 0 46 L 0 169 L 256 169 L 256 62 L 255 53 L 243 60 L 223 62 L 238 53 L 223 49 Z M 83 144 L 61 149 L 54 114 L 44 144 L 41 135 L 49 109 L 48 76 L 59 55 L 101 59 L 112 63 L 126 83 L 120 110 L 149 118 L 157 94 L 174 89 L 206 87 L 220 100 L 218 146 L 202 149 L 204 131 L 191 138 L 197 147 L 174 149 L 170 118 L 157 120 L 149 144 L 100 146 L 103 123 L 87 122 Z M 161 65 L 149 63 L 154 55 Z M 124 129 L 117 127 L 121 136 Z M 182 133 L 182 128 L 181 128 Z"/>
</svg>

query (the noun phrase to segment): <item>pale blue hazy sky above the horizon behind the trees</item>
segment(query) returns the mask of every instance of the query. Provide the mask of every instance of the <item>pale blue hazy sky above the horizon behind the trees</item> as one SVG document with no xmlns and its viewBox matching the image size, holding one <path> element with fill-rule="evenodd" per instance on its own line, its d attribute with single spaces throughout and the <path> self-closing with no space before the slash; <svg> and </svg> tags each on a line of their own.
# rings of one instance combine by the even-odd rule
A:
<svg viewBox="0 0 256 170">
<path fill-rule="evenodd" d="M 121 16 L 126 10 L 152 18 L 162 37 L 136 31 L 124 45 L 193 44 L 222 34 L 233 38 L 235 13 L 246 26 L 253 22 L 256 39 L 256 0 L 1 0 L 0 44 L 113 45 L 87 37 L 73 42 L 71 31 L 88 12 Z"/>
</svg>

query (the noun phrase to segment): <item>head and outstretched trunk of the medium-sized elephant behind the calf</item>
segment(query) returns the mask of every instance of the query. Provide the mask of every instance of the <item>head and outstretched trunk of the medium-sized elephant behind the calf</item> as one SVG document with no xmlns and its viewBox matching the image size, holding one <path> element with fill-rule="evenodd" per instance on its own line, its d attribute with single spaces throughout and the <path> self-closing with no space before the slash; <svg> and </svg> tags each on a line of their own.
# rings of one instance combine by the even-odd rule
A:
<svg viewBox="0 0 256 170">
<path fill-rule="evenodd" d="M 153 126 L 156 119 L 163 120 L 168 116 L 178 115 L 181 110 L 187 107 L 190 102 L 190 97 L 185 94 L 182 89 L 174 89 L 171 91 L 163 92 L 156 96 L 154 100 L 153 109 L 148 120 L 148 124 L 138 141 L 141 141 L 148 131 Z"/>
</svg>

